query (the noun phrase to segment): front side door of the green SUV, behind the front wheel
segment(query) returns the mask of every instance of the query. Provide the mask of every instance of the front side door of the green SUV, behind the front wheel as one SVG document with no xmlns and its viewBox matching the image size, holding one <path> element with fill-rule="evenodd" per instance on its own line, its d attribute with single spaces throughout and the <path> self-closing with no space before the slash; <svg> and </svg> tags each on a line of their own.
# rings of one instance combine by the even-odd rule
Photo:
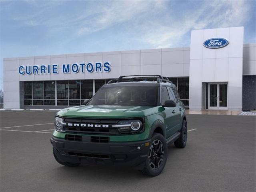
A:
<svg viewBox="0 0 256 192">
<path fill-rule="evenodd" d="M 164 106 L 164 102 L 169 100 L 170 96 L 166 86 L 161 87 L 161 105 Z M 175 107 L 176 108 L 176 107 Z M 162 115 L 164 117 L 164 124 L 166 127 L 166 138 L 174 134 L 174 128 L 176 127 L 176 111 L 174 107 L 164 107 Z M 175 112 L 174 112 L 175 111 Z"/>
</svg>

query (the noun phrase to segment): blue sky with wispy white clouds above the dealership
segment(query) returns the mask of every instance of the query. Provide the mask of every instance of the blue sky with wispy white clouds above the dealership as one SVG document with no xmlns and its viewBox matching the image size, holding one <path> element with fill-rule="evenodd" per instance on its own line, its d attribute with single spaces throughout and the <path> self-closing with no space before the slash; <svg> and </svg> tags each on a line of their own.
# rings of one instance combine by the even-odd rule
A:
<svg viewBox="0 0 256 192">
<path fill-rule="evenodd" d="M 256 42 L 255 0 L 0 0 L 3 58 L 190 46 L 195 29 L 244 26 Z"/>
</svg>

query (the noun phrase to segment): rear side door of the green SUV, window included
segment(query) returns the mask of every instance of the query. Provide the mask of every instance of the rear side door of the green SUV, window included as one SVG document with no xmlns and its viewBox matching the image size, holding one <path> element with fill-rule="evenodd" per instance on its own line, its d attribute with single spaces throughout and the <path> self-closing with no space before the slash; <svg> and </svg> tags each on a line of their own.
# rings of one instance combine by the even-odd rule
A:
<svg viewBox="0 0 256 192">
<path fill-rule="evenodd" d="M 178 130 L 180 130 L 180 118 L 181 118 L 181 107 L 178 104 L 178 99 L 176 98 L 176 95 L 174 93 L 174 90 L 172 87 L 168 87 L 168 93 L 170 95 L 170 100 L 174 100 L 176 102 L 176 107 L 173 108 L 173 118 L 172 118 L 172 124 L 173 124 L 173 130 L 171 130 L 171 134 L 174 134 Z"/>
</svg>

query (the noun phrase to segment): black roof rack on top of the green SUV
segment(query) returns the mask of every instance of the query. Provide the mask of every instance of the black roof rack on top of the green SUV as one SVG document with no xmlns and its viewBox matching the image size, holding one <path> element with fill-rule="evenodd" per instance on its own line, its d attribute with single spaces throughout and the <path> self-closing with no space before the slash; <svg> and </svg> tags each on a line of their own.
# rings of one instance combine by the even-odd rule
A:
<svg viewBox="0 0 256 192">
<path fill-rule="evenodd" d="M 124 79 L 126 77 L 132 77 L 130 79 Z M 140 79 L 140 78 L 145 78 L 145 79 L 149 79 L 149 78 L 156 78 L 156 81 L 158 83 L 160 82 L 169 82 L 172 83 L 171 81 L 169 81 L 169 79 L 167 77 L 162 77 L 161 75 L 127 75 L 127 76 L 120 76 L 118 79 L 112 79 L 110 80 L 107 84 L 110 83 L 119 83 L 119 82 L 133 82 L 136 79 Z"/>
</svg>

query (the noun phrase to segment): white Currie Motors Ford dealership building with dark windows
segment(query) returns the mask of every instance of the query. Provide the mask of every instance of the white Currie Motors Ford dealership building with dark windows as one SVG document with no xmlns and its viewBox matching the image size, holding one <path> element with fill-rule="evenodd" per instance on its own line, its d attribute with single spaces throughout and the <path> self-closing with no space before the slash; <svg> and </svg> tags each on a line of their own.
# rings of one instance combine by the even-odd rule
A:
<svg viewBox="0 0 256 192">
<path fill-rule="evenodd" d="M 193 30 L 190 47 L 4 58 L 4 108 L 83 104 L 108 80 L 159 74 L 191 110 L 256 109 L 256 43 L 244 27 Z"/>
</svg>

